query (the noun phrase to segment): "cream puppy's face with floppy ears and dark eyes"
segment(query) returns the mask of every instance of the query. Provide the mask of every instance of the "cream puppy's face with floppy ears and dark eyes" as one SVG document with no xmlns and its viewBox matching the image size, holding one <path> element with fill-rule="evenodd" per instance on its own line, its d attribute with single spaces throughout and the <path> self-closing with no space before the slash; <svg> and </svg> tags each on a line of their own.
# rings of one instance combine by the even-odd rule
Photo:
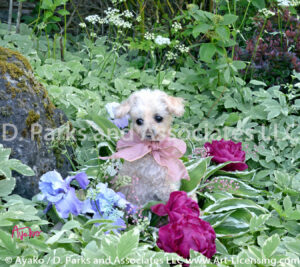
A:
<svg viewBox="0 0 300 267">
<path fill-rule="evenodd" d="M 142 140 L 161 141 L 170 134 L 172 117 L 184 113 L 183 99 L 159 90 L 143 89 L 122 102 L 116 117 L 130 114 L 132 128 Z"/>
</svg>

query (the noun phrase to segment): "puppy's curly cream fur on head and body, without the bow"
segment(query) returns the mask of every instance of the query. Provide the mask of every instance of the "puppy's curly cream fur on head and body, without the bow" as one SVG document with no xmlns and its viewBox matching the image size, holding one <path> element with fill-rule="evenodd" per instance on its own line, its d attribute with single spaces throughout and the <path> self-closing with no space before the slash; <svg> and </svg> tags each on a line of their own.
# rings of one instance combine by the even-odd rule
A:
<svg viewBox="0 0 300 267">
<path fill-rule="evenodd" d="M 172 115 L 181 116 L 184 112 L 183 99 L 168 96 L 160 90 L 143 89 L 133 93 L 116 112 L 117 117 L 130 114 L 132 128 L 141 139 L 160 141 L 170 134 Z M 156 121 L 156 116 L 163 118 Z M 142 119 L 139 125 L 137 120 Z M 119 176 L 130 176 L 132 183 L 120 191 L 136 205 L 151 200 L 167 201 L 171 192 L 180 187 L 180 182 L 167 178 L 167 169 L 159 165 L 151 154 L 134 162 L 125 161 Z"/>
</svg>

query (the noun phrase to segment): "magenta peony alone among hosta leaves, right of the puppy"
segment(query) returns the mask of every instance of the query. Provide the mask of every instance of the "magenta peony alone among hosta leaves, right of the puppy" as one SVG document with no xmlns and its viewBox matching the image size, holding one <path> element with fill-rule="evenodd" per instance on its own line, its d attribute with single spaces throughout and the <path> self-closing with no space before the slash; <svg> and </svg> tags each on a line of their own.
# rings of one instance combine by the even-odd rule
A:
<svg viewBox="0 0 300 267">
<path fill-rule="evenodd" d="M 205 143 L 204 147 L 209 156 L 212 156 L 212 161 L 223 163 L 226 161 L 239 161 L 230 163 L 223 168 L 225 171 L 244 171 L 248 168 L 245 163 L 245 151 L 242 150 L 242 143 L 234 143 L 233 141 L 225 141 L 224 139 L 212 143 Z"/>
</svg>

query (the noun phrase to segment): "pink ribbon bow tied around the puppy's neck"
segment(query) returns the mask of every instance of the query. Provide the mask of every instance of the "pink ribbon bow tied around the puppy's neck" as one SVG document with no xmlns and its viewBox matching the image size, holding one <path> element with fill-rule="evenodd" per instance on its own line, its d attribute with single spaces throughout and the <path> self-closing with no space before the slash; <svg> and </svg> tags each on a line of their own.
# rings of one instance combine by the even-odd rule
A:
<svg viewBox="0 0 300 267">
<path fill-rule="evenodd" d="M 130 131 L 117 142 L 117 152 L 110 157 L 100 159 L 122 158 L 129 162 L 135 161 L 151 153 L 155 161 L 168 169 L 168 177 L 172 181 L 189 180 L 188 172 L 179 159 L 186 151 L 186 144 L 177 138 L 167 137 L 162 141 L 143 141 Z"/>
</svg>

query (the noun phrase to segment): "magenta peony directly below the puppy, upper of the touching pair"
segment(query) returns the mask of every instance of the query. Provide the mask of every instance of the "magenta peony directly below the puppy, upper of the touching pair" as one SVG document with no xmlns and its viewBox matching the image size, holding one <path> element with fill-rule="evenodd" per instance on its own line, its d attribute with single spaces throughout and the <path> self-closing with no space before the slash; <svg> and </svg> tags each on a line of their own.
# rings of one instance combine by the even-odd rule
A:
<svg viewBox="0 0 300 267">
<path fill-rule="evenodd" d="M 153 213 L 159 216 L 169 216 L 169 221 L 174 222 L 183 215 L 199 217 L 200 210 L 197 202 L 188 197 L 184 191 L 175 191 L 170 194 L 167 204 L 157 204 L 151 207 Z"/>
</svg>

